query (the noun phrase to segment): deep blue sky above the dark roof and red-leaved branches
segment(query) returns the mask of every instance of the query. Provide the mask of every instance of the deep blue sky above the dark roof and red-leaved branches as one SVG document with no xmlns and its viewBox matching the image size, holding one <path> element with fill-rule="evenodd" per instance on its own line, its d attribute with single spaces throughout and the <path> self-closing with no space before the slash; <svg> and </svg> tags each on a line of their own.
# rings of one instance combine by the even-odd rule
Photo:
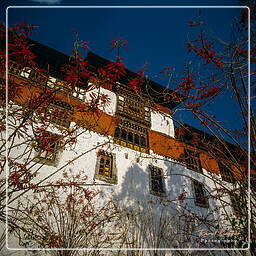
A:
<svg viewBox="0 0 256 256">
<path fill-rule="evenodd" d="M 132 71 L 141 68 L 147 62 L 149 77 L 163 85 L 164 80 L 158 78 L 162 68 L 175 68 L 178 77 L 182 77 L 184 64 L 192 62 L 198 66 L 197 60 L 186 50 L 187 37 L 192 37 L 193 28 L 189 20 L 195 20 L 199 8 L 52 8 L 52 6 L 116 6 L 116 5 L 148 5 L 148 6 L 192 6 L 205 5 L 238 6 L 237 1 L 4 1 L 1 8 L 1 20 L 5 19 L 6 6 L 47 6 L 47 8 L 11 8 L 8 11 L 8 22 L 23 22 L 39 26 L 32 36 L 43 44 L 70 54 L 74 34 L 72 29 L 80 33 L 80 38 L 90 42 L 93 52 L 107 59 L 114 59 L 109 42 L 119 36 L 129 43 L 129 50 L 123 50 L 125 65 Z M 234 17 L 239 16 L 240 9 L 235 8 L 201 8 L 201 16 L 212 36 L 229 40 Z M 196 34 L 196 33 L 195 33 Z M 208 66 L 201 67 L 202 69 Z M 212 106 L 213 112 L 228 127 L 239 127 L 238 110 L 232 100 L 221 97 Z M 232 109 L 232 113 L 230 110 Z M 200 124 L 189 115 L 178 115 L 178 118 L 200 128 Z M 237 128 L 237 127 L 236 127 Z"/>
</svg>

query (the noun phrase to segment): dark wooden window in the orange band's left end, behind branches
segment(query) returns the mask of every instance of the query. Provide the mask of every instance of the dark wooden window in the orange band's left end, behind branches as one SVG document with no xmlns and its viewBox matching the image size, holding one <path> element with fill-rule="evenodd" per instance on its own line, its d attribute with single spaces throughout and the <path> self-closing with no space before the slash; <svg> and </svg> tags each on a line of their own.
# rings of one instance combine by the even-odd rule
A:
<svg viewBox="0 0 256 256">
<path fill-rule="evenodd" d="M 69 128 L 73 107 L 67 102 L 54 100 L 47 108 L 50 121 L 54 124 Z"/>
</svg>

